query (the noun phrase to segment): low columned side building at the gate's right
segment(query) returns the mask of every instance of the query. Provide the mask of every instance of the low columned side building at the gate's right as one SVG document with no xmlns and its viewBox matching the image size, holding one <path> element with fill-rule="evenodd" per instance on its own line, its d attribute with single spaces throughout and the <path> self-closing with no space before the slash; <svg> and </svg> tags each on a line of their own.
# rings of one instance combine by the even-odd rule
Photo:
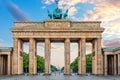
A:
<svg viewBox="0 0 120 80">
<path fill-rule="evenodd" d="M 104 48 L 104 75 L 120 75 L 120 48 Z"/>
</svg>

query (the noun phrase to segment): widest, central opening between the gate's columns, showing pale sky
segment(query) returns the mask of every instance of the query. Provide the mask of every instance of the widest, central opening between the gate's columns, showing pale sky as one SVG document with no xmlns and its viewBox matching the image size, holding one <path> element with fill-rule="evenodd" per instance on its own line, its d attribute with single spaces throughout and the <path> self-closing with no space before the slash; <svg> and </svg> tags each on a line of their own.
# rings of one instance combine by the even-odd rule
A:
<svg viewBox="0 0 120 80">
<path fill-rule="evenodd" d="M 64 43 L 51 43 L 51 72 L 64 74 Z"/>
</svg>

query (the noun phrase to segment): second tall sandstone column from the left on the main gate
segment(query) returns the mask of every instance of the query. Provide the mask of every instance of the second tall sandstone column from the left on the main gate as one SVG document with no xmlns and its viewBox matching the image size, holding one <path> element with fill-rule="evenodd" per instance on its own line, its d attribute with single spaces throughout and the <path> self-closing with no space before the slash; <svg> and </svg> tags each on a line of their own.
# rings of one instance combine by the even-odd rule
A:
<svg viewBox="0 0 120 80">
<path fill-rule="evenodd" d="M 37 74 L 37 61 L 36 61 L 36 40 L 30 38 L 29 40 L 29 74 Z"/>
</svg>

